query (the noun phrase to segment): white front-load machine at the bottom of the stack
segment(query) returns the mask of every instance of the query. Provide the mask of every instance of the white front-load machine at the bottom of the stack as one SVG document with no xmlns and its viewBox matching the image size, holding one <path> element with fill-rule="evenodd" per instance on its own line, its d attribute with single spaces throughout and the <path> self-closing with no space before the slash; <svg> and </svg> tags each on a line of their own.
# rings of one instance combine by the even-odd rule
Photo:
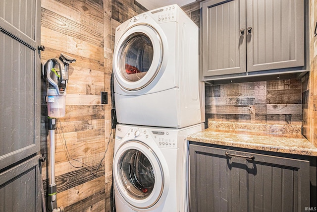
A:
<svg viewBox="0 0 317 212">
<path fill-rule="evenodd" d="M 182 128 L 117 125 L 113 179 L 117 212 L 187 212 L 187 141 Z"/>
</svg>

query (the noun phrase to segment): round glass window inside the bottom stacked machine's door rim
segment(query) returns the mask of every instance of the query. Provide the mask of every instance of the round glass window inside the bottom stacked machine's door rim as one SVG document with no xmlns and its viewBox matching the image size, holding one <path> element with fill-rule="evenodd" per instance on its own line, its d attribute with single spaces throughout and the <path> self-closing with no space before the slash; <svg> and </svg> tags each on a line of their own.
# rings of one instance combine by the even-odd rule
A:
<svg viewBox="0 0 317 212">
<path fill-rule="evenodd" d="M 118 174 L 131 198 L 141 200 L 152 193 L 155 184 L 153 166 L 141 151 L 126 150 L 120 157 Z"/>
</svg>

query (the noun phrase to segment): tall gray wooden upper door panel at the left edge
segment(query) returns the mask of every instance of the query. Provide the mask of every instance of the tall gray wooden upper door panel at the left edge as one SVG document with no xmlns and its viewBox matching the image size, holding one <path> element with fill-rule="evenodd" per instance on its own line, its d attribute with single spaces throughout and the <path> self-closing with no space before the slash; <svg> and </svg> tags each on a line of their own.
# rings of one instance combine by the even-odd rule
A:
<svg viewBox="0 0 317 212">
<path fill-rule="evenodd" d="M 40 0 L 0 0 L 0 169 L 40 150 Z"/>
</svg>

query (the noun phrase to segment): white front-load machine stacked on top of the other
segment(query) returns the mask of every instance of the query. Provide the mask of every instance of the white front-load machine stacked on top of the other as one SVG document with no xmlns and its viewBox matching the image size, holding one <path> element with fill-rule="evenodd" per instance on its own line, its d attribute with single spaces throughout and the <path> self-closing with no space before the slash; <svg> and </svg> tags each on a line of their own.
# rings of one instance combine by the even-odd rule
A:
<svg viewBox="0 0 317 212">
<path fill-rule="evenodd" d="M 116 28 L 113 73 L 119 123 L 182 128 L 205 121 L 199 28 L 178 5 Z"/>
</svg>

